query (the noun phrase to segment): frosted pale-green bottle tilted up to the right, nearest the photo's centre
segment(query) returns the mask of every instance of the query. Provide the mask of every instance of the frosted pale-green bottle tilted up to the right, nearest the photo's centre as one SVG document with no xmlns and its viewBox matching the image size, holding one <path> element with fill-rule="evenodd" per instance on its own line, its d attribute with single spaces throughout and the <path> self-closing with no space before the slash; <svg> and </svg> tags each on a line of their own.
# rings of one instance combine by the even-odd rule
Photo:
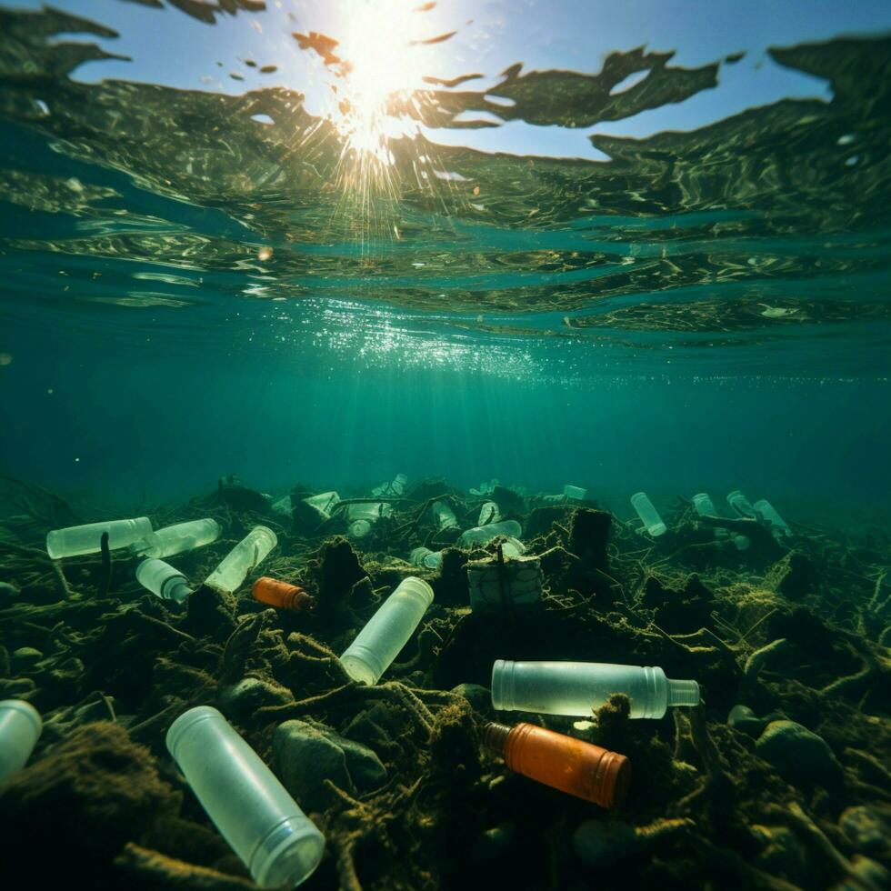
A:
<svg viewBox="0 0 891 891">
<path fill-rule="evenodd" d="M 340 657 L 360 684 L 376 684 L 415 633 L 433 603 L 433 588 L 415 576 L 404 578 Z"/>
</svg>

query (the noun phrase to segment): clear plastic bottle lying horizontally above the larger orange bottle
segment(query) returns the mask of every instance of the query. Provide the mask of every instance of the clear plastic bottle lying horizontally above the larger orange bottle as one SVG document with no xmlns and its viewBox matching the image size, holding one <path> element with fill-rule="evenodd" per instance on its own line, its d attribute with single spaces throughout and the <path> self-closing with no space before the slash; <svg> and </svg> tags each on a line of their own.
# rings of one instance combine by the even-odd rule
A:
<svg viewBox="0 0 891 891">
<path fill-rule="evenodd" d="M 631 717 L 662 717 L 668 706 L 696 706 L 696 681 L 671 681 L 661 668 L 599 662 L 506 662 L 492 666 L 492 706 L 504 711 L 588 717 L 614 693 Z"/>
</svg>

